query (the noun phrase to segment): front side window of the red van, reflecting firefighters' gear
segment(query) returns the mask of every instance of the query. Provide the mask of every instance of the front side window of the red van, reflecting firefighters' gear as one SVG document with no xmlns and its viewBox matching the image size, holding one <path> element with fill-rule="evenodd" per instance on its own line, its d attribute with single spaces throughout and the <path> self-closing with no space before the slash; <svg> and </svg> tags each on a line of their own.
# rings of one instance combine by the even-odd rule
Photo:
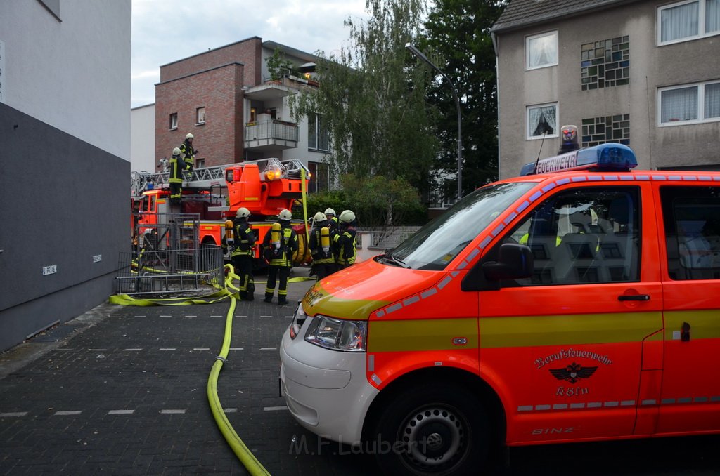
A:
<svg viewBox="0 0 720 476">
<path fill-rule="evenodd" d="M 577 188 L 546 199 L 503 241 L 530 247 L 534 274 L 503 285 L 639 280 L 639 209 L 637 187 Z"/>
</svg>

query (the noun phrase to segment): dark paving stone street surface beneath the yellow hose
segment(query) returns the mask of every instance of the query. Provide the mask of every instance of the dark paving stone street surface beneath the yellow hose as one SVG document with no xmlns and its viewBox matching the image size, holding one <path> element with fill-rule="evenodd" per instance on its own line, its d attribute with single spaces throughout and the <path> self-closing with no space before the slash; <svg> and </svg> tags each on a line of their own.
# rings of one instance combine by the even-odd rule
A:
<svg viewBox="0 0 720 476">
<path fill-rule="evenodd" d="M 238 302 L 220 403 L 273 475 L 377 473 L 302 429 L 279 396 L 279 342 L 311 284 L 291 283 L 285 306 L 257 291 Z M 248 474 L 207 401 L 229 302 L 103 304 L 0 354 L 0 475 Z"/>
</svg>

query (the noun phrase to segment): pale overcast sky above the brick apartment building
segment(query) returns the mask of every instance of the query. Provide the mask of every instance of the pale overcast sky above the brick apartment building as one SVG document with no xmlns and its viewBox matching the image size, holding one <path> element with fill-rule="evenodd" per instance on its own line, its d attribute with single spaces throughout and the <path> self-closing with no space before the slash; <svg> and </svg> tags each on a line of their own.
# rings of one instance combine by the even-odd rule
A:
<svg viewBox="0 0 720 476">
<path fill-rule="evenodd" d="M 329 55 L 348 17 L 367 18 L 365 0 L 132 0 L 131 106 L 155 102 L 161 65 L 249 37 Z"/>
</svg>

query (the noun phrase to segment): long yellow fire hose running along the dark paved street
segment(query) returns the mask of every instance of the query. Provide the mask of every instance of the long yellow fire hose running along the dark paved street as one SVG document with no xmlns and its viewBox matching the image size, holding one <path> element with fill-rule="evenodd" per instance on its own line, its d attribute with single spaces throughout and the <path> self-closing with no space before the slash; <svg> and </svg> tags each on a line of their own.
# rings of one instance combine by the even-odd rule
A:
<svg viewBox="0 0 720 476">
<path fill-rule="evenodd" d="M 233 265 L 225 265 L 225 267 L 229 268 L 228 276 L 225 278 L 225 288 L 222 288 L 216 293 L 212 293 L 208 296 L 203 296 L 202 298 L 135 299 L 123 294 L 110 296 L 109 302 L 125 306 L 180 306 L 184 304 L 211 304 L 222 301 L 222 299 L 230 298 L 230 309 L 228 310 L 228 314 L 225 318 L 225 337 L 222 340 L 220 354 L 215 357 L 215 363 L 212 364 L 212 369 L 210 370 L 210 377 L 207 379 L 207 400 L 210 403 L 210 411 L 212 411 L 212 416 L 215 418 L 215 423 L 220 429 L 222 436 L 225 436 L 225 441 L 228 441 L 228 444 L 230 445 L 230 448 L 233 449 L 235 456 L 240 459 L 240 462 L 243 463 L 248 472 L 250 472 L 253 476 L 269 476 L 270 473 L 268 470 L 266 470 L 258 459 L 256 459 L 255 455 L 253 455 L 250 449 L 246 447 L 243 440 L 240 439 L 240 436 L 238 436 L 235 429 L 233 429 L 228 417 L 225 416 L 225 411 L 222 410 L 220 398 L 217 396 L 217 377 L 220 375 L 222 365 L 228 359 L 230 337 L 233 333 L 233 314 L 235 313 L 235 303 L 237 303 L 235 294 L 231 293 L 228 288 L 232 288 L 235 291 L 239 290 L 233 284 L 233 279 L 239 279 L 238 275 L 235 274 Z"/>
</svg>

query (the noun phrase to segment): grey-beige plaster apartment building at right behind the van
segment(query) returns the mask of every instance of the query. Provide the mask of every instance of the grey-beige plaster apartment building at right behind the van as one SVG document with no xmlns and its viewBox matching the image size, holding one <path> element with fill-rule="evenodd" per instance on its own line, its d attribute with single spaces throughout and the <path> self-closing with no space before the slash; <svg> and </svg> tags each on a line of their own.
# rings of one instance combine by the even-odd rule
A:
<svg viewBox="0 0 720 476">
<path fill-rule="evenodd" d="M 720 170 L 720 0 L 513 0 L 492 37 L 500 178 L 566 124 L 640 168 Z"/>
</svg>

